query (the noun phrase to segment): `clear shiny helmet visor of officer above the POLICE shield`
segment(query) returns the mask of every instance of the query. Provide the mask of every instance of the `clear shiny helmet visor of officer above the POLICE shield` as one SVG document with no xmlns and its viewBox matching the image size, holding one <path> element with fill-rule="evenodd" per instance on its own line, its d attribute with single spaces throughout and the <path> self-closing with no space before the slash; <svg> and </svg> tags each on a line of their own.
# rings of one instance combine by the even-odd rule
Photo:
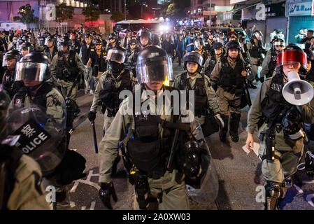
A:
<svg viewBox="0 0 314 224">
<path fill-rule="evenodd" d="M 34 80 L 42 82 L 45 80 L 47 64 L 36 62 L 17 62 L 15 81 Z"/>
</svg>

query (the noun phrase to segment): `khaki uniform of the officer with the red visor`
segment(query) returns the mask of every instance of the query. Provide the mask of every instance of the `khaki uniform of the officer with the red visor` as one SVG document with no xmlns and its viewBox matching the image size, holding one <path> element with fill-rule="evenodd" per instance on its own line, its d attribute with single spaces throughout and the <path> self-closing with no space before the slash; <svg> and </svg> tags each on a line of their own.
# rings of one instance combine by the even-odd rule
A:
<svg viewBox="0 0 314 224">
<path fill-rule="evenodd" d="M 248 112 L 248 127 L 247 132 L 252 134 L 258 129 L 257 136 L 260 137 L 259 156 L 261 158 L 266 155 L 266 137 L 262 132 L 269 129 L 266 122 L 259 123 L 262 116 L 271 114 L 271 108 L 273 110 L 278 109 L 278 106 L 289 106 L 290 104 L 285 101 L 281 90 L 283 85 L 286 84 L 282 73 L 276 73 L 272 78 L 267 78 L 259 89 L 258 94 L 255 97 L 250 111 Z M 264 99 L 269 98 L 269 105 L 267 108 L 262 107 Z M 291 105 L 290 105 L 291 106 Z M 301 114 L 301 120 L 305 123 L 314 123 L 314 101 L 305 104 L 303 106 L 297 106 L 299 113 Z M 265 114 L 265 115 L 264 115 Z M 273 118 L 276 118 L 277 114 L 273 114 Z M 262 137 L 264 135 L 264 138 Z M 297 172 L 297 165 L 301 160 L 301 155 L 304 150 L 304 139 L 292 140 L 287 137 L 283 130 L 276 131 L 275 136 L 275 160 L 273 162 L 262 162 L 262 173 L 267 181 L 274 181 L 283 183 L 285 176 L 291 176 Z"/>
</svg>

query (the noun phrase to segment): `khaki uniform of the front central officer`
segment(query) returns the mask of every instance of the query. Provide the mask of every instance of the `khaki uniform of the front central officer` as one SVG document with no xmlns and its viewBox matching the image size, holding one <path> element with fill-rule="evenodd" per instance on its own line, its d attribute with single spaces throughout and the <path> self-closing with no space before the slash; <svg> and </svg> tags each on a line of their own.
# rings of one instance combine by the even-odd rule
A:
<svg viewBox="0 0 314 224">
<path fill-rule="evenodd" d="M 155 111 L 157 114 L 157 105 L 155 104 L 155 100 L 150 99 L 145 91 L 141 94 L 141 102 L 146 102 L 150 108 L 150 111 Z M 166 100 L 170 100 L 167 98 Z M 149 134 L 154 132 L 152 128 L 148 129 L 145 127 L 145 123 L 141 124 L 141 120 L 147 120 L 146 116 L 131 116 L 133 114 L 132 109 L 129 107 L 129 98 L 124 99 L 122 102 L 122 106 L 120 107 L 120 111 L 118 111 L 115 116 L 113 123 L 110 125 L 108 131 L 106 132 L 104 138 L 101 140 L 99 144 L 99 155 L 100 155 L 100 166 L 99 166 L 99 182 L 107 183 L 111 181 L 110 173 L 111 167 L 113 165 L 113 161 L 116 157 L 117 144 L 119 143 L 121 137 L 124 138 L 126 136 L 125 130 L 128 128 L 127 138 L 124 139 L 124 146 L 127 146 L 127 150 L 131 151 L 131 144 L 129 144 L 130 139 L 137 139 L 139 136 L 136 133 L 141 132 L 144 133 L 143 130 L 140 131 L 141 125 L 142 129 L 144 128 L 147 138 L 149 138 Z M 169 104 L 170 105 L 170 104 Z M 163 107 L 164 108 L 164 107 Z M 129 111 L 131 110 L 131 111 Z M 124 111 L 124 112 L 122 112 Z M 164 109 L 163 111 L 166 111 Z M 125 115 L 122 115 L 125 114 Z M 163 120 L 172 122 L 173 116 L 171 115 L 161 115 L 160 118 Z M 154 124 L 152 121 L 147 120 L 148 123 Z M 157 124 L 154 124 L 157 125 Z M 154 126 L 155 127 L 155 126 Z M 196 139 L 204 139 L 203 134 L 201 133 L 201 129 L 197 128 L 196 123 L 192 122 L 191 132 L 196 137 Z M 169 138 L 169 136 L 173 135 L 172 132 L 169 133 L 169 130 L 166 130 L 162 125 L 157 125 L 157 130 L 164 139 Z M 145 147 L 148 144 L 153 143 L 143 143 L 142 147 Z M 206 144 L 204 142 L 204 144 Z M 152 145 L 153 146 L 153 145 Z M 152 147 L 150 147 L 151 150 Z M 145 148 L 146 150 L 147 148 Z M 169 152 L 168 152 L 169 153 Z M 159 157 L 160 155 L 155 155 L 148 151 L 148 154 L 151 157 Z M 145 158 L 148 155 L 142 155 Z M 140 155 L 137 156 L 137 158 Z M 156 158 L 152 158 L 156 159 Z M 160 163 L 163 164 L 162 162 Z M 173 172 L 165 171 L 163 165 L 160 167 L 160 164 L 157 167 L 154 167 L 151 174 L 148 174 L 148 185 L 150 189 L 150 193 L 148 197 L 150 198 L 150 207 L 148 209 L 176 209 L 176 210 L 187 210 L 190 209 L 189 202 L 187 200 L 187 194 L 185 190 L 185 181 L 184 174 L 178 172 L 178 169 L 175 168 Z M 144 166 L 152 166 L 152 163 L 145 164 Z M 152 175 L 152 176 L 150 176 Z"/>
</svg>

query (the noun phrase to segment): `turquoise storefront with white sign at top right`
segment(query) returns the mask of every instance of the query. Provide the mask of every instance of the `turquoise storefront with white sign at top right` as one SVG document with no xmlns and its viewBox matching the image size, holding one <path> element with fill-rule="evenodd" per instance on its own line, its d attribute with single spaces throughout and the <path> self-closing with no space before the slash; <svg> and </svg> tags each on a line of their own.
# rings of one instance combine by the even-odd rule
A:
<svg viewBox="0 0 314 224">
<path fill-rule="evenodd" d="M 311 16 L 313 2 L 312 0 L 287 0 L 285 15 L 289 18 L 289 43 L 297 43 L 297 39 L 294 36 L 299 33 L 300 29 L 314 30 L 314 16 Z"/>
</svg>

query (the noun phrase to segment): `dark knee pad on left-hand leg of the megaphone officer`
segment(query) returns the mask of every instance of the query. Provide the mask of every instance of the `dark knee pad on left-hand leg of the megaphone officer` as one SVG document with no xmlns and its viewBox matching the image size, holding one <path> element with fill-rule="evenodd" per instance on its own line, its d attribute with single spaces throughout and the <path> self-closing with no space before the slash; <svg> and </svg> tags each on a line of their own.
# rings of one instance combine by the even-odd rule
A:
<svg viewBox="0 0 314 224">
<path fill-rule="evenodd" d="M 266 192 L 266 202 L 265 209 L 266 210 L 276 210 L 278 209 L 278 200 L 280 198 L 282 183 L 267 181 L 265 185 Z"/>
</svg>

